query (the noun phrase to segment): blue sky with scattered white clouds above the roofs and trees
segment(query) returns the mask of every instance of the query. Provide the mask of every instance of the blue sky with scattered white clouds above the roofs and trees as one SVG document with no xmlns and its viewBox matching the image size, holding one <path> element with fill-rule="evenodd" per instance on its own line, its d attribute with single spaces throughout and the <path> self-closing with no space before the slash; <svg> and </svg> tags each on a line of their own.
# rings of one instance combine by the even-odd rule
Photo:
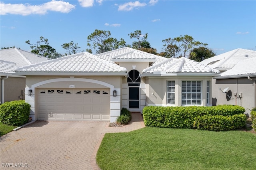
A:
<svg viewBox="0 0 256 170">
<path fill-rule="evenodd" d="M 59 53 L 73 41 L 86 49 L 94 30 L 109 30 L 127 44 L 128 34 L 148 33 L 151 47 L 162 51 L 162 40 L 189 35 L 208 43 L 216 55 L 236 48 L 256 50 L 256 1 L 174 0 L 1 0 L 0 46 L 30 51 L 26 40 L 40 36 Z"/>
</svg>

